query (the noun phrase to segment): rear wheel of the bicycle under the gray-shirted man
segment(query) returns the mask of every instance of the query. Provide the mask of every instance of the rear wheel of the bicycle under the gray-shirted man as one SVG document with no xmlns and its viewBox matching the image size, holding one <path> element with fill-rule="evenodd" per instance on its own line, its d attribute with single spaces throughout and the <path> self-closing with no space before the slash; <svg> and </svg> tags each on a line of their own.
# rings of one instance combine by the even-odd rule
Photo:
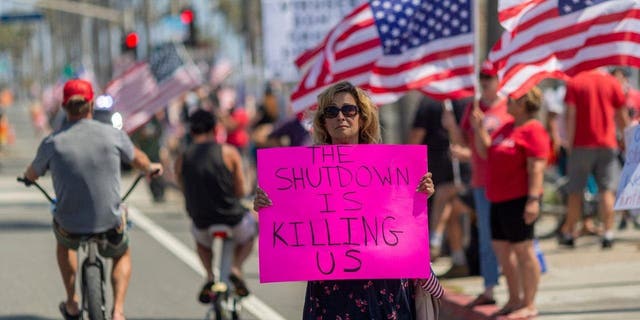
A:
<svg viewBox="0 0 640 320">
<path fill-rule="evenodd" d="M 91 250 L 91 249 L 90 249 Z M 82 299 L 90 320 L 105 320 L 102 261 L 88 257 L 82 265 Z"/>
</svg>

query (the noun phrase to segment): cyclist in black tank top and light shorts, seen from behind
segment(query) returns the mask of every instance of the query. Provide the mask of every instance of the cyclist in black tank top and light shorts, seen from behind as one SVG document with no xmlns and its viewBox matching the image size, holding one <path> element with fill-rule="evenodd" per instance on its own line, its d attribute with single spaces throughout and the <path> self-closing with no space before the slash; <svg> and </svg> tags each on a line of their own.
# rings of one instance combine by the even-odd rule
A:
<svg viewBox="0 0 640 320">
<path fill-rule="evenodd" d="M 242 158 L 232 145 L 216 142 L 216 118 L 210 112 L 196 110 L 189 117 L 189 124 L 193 143 L 176 159 L 175 173 L 192 220 L 196 251 L 207 272 L 198 300 L 211 300 L 213 238 L 209 227 L 213 225 L 231 228 L 236 246 L 229 280 L 236 293 L 244 297 L 249 290 L 242 278 L 242 264 L 253 249 L 257 226 L 253 214 L 240 203 L 245 195 Z"/>
</svg>

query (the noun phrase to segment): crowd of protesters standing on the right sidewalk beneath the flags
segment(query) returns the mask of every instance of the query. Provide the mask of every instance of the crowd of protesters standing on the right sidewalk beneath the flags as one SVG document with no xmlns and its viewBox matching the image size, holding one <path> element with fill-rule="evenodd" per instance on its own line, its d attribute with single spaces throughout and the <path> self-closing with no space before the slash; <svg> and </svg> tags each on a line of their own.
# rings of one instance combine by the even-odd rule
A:
<svg viewBox="0 0 640 320">
<path fill-rule="evenodd" d="M 431 259 L 450 256 L 451 268 L 441 278 L 483 277 L 484 291 L 468 307 L 496 303 L 493 288 L 500 270 L 509 301 L 498 315 L 537 314 L 541 269 L 534 227 L 546 173 L 566 184 L 567 219 L 558 230 L 558 246 L 573 249 L 575 239 L 585 235 L 600 237 L 603 250 L 614 245 L 623 131 L 640 118 L 640 99 L 630 77 L 629 68 L 598 68 L 567 82 L 545 80 L 539 85 L 543 90 L 536 87 L 523 97 L 503 97 L 496 91 L 497 74 L 483 64 L 475 105 L 423 99 L 408 141 L 429 146 L 437 186 L 430 202 Z M 599 215 L 582 210 L 585 194 L 598 195 Z M 621 216 L 619 229 L 628 221 L 640 226 L 637 212 Z M 461 226 L 465 221 L 466 228 Z"/>
</svg>

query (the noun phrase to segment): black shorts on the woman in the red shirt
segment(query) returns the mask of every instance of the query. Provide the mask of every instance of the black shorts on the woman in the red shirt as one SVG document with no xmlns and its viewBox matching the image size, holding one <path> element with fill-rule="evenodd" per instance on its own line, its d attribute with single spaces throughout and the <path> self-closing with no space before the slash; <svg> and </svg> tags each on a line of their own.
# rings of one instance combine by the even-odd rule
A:
<svg viewBox="0 0 640 320">
<path fill-rule="evenodd" d="M 511 243 L 533 240 L 533 225 L 524 223 L 527 197 L 491 203 L 491 238 Z"/>
</svg>

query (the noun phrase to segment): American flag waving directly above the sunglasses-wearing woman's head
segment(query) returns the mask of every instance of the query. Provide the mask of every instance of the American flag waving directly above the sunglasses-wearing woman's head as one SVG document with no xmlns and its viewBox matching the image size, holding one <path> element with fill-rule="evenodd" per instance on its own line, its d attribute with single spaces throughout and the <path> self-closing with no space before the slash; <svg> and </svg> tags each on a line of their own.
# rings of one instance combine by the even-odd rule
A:
<svg viewBox="0 0 640 320">
<path fill-rule="evenodd" d="M 294 111 L 313 108 L 330 84 L 349 80 L 377 104 L 409 90 L 435 98 L 473 94 L 471 0 L 371 0 L 356 7 L 296 65 Z"/>
</svg>

